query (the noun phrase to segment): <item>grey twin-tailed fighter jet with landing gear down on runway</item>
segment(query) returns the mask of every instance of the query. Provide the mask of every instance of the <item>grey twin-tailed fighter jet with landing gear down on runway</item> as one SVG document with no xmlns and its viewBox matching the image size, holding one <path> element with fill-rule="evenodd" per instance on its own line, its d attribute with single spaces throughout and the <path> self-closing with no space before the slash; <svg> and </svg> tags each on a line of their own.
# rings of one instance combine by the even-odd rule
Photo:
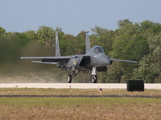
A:
<svg viewBox="0 0 161 120">
<path fill-rule="evenodd" d="M 86 53 L 82 55 L 69 55 L 60 56 L 58 32 L 56 31 L 56 50 L 55 56 L 52 57 L 20 57 L 21 59 L 40 59 L 41 61 L 32 61 L 34 63 L 55 64 L 58 68 L 71 71 L 68 75 L 68 83 L 72 82 L 72 75 L 76 71 L 88 69 L 91 70 L 92 82 L 97 83 L 96 71 L 107 71 L 107 66 L 111 65 L 113 61 L 131 62 L 130 60 L 112 59 L 105 55 L 102 47 L 94 46 L 90 47 L 89 32 L 86 33 Z"/>
</svg>

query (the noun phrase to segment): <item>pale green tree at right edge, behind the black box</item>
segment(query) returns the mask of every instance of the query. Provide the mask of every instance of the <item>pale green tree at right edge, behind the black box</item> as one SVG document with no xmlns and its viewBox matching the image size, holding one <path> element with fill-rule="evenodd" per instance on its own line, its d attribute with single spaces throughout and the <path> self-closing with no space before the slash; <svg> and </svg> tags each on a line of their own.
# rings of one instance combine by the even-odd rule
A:
<svg viewBox="0 0 161 120">
<path fill-rule="evenodd" d="M 158 78 L 161 74 L 161 35 L 150 37 L 149 54 L 145 55 L 139 62 L 139 67 L 135 68 L 134 79 L 143 79 L 145 82 L 161 82 Z"/>
</svg>

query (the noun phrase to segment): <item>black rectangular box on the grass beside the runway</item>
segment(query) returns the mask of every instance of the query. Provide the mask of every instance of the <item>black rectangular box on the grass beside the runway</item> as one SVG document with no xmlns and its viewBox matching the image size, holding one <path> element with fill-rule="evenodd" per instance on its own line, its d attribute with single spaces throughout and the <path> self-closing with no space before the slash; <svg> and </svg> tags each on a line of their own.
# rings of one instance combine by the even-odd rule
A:
<svg viewBox="0 0 161 120">
<path fill-rule="evenodd" d="M 127 80 L 127 91 L 144 91 L 143 80 Z"/>
</svg>

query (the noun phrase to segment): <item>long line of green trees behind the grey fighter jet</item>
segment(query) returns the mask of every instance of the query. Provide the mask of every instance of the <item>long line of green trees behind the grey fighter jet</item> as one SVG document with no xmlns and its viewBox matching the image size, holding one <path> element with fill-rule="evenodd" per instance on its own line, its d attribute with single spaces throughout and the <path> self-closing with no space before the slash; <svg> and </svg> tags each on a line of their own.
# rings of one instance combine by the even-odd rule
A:
<svg viewBox="0 0 161 120">
<path fill-rule="evenodd" d="M 78 35 L 59 31 L 60 52 L 62 56 L 85 53 L 85 32 Z M 98 82 L 123 83 L 126 80 L 144 80 L 147 83 L 161 82 L 161 24 L 145 20 L 132 23 L 119 20 L 118 29 L 109 30 L 95 26 L 91 28 L 91 46 L 99 45 L 110 58 L 137 61 L 137 64 L 113 62 L 107 72 L 98 73 Z M 30 65 L 20 60 L 20 56 L 54 56 L 56 30 L 40 26 L 37 31 L 6 32 L 0 27 L 0 76 L 18 72 L 36 72 L 38 69 L 53 70 L 52 65 Z M 52 67 L 51 67 L 52 66 Z M 37 69 L 36 69 L 37 68 Z M 54 67 L 55 68 L 55 67 Z M 16 72 L 17 71 L 17 72 Z M 62 75 L 60 75 L 62 74 Z M 8 74 L 9 75 L 9 74 Z M 59 72 L 62 80 L 63 72 Z M 89 73 L 81 72 L 75 81 L 89 80 Z"/>
</svg>

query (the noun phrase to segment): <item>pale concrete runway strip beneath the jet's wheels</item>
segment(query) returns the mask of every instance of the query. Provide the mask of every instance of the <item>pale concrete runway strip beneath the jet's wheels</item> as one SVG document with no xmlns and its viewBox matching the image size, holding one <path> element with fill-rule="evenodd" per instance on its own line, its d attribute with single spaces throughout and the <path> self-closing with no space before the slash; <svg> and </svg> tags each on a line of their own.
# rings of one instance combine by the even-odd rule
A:
<svg viewBox="0 0 161 120">
<path fill-rule="evenodd" d="M 0 88 L 127 89 L 127 84 L 126 83 L 0 83 Z M 161 89 L 161 84 L 145 83 L 144 89 Z"/>
</svg>

